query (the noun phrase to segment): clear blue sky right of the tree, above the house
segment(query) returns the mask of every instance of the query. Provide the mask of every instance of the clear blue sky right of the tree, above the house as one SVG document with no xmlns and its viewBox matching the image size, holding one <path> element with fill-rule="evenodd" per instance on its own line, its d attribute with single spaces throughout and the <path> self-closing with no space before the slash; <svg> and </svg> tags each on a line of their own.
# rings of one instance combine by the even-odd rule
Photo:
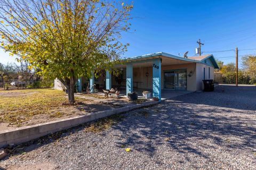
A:
<svg viewBox="0 0 256 170">
<path fill-rule="evenodd" d="M 131 30 L 122 39 L 130 47 L 122 57 L 155 52 L 182 56 L 186 51 L 194 56 L 199 38 L 205 44 L 203 54 L 256 48 L 256 1 L 137 0 L 133 4 Z M 225 63 L 235 62 L 235 51 L 212 54 Z M 239 51 L 246 54 L 256 54 L 256 50 Z M 12 61 L 0 51 L 1 63 Z"/>
</svg>

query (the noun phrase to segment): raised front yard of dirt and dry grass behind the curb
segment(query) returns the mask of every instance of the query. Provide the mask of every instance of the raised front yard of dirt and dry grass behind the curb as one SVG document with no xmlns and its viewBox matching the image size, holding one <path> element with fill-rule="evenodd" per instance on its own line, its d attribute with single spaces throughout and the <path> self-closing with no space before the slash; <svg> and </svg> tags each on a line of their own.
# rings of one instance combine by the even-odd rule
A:
<svg viewBox="0 0 256 170">
<path fill-rule="evenodd" d="M 0 131 L 45 123 L 131 104 L 127 98 L 75 95 L 75 106 L 63 105 L 65 92 L 53 89 L 0 91 Z"/>
</svg>

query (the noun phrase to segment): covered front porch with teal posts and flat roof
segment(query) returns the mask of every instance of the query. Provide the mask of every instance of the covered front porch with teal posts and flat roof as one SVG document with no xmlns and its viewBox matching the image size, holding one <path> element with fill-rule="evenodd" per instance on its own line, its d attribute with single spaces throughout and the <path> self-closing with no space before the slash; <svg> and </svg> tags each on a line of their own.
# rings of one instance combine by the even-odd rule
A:
<svg viewBox="0 0 256 170">
<path fill-rule="evenodd" d="M 142 96 L 143 91 L 150 91 L 151 97 L 159 100 L 196 91 L 195 60 L 154 53 L 127 58 L 124 63 L 116 65 L 121 72 L 119 77 L 105 72 L 102 82 L 98 82 L 101 87 L 108 90 L 118 88 L 124 96 L 133 91 Z M 90 79 L 91 92 L 94 88 L 92 84 L 95 84 L 94 77 Z"/>
</svg>

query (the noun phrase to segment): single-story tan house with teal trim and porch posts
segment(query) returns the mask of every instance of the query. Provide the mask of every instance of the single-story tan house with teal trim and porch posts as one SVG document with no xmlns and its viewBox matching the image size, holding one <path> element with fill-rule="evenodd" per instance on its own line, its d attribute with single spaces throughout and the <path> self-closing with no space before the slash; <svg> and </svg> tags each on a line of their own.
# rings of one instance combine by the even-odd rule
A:
<svg viewBox="0 0 256 170">
<path fill-rule="evenodd" d="M 213 55 L 180 57 L 163 52 L 126 58 L 125 64 L 116 65 L 121 71 L 118 77 L 105 71 L 99 78 L 91 78 L 90 86 L 98 89 L 119 87 L 126 95 L 132 91 L 150 91 L 153 97 L 161 99 L 166 90 L 203 90 L 203 81 L 214 78 L 214 69 L 219 69 Z M 86 88 L 86 79 L 77 81 L 77 90 Z M 55 80 L 55 88 L 60 84 Z M 91 88 L 93 91 L 93 87 Z"/>
</svg>

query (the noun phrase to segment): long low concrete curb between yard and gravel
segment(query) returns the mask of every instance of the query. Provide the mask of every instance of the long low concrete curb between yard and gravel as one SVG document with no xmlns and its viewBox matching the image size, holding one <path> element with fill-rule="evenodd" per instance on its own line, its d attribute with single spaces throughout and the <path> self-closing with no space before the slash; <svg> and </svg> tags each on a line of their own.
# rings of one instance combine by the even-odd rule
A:
<svg viewBox="0 0 256 170">
<path fill-rule="evenodd" d="M 43 137 L 44 135 L 69 129 L 69 128 L 78 126 L 80 124 L 97 120 L 99 118 L 108 117 L 114 114 L 131 111 L 132 109 L 135 109 L 135 108 L 155 105 L 159 102 L 160 101 L 148 101 L 142 104 L 134 104 L 134 105 L 120 107 L 116 109 L 109 109 L 107 111 L 95 112 L 95 113 L 90 113 L 86 115 L 65 118 L 58 121 L 25 126 L 25 127 L 17 128 L 14 130 L 2 131 L 0 132 L 0 148 L 6 147 L 11 143 L 18 145 L 19 143 L 34 140 L 39 137 Z"/>
</svg>

